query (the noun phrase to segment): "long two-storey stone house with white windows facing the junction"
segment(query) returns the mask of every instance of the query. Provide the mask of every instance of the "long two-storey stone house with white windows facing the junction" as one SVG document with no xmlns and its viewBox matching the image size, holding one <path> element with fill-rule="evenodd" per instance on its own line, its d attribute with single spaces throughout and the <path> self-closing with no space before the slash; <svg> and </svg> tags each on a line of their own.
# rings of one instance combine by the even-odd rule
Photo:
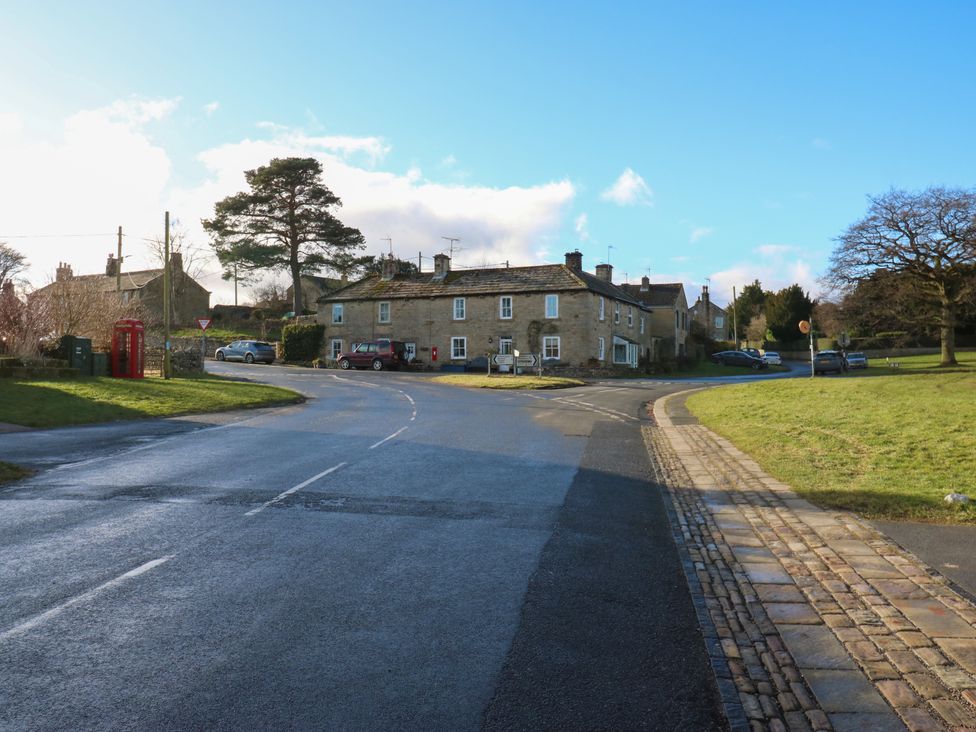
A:
<svg viewBox="0 0 976 732">
<path fill-rule="evenodd" d="M 438 254 L 433 272 L 409 274 L 384 259 L 381 275 L 321 297 L 318 321 L 332 359 L 354 343 L 390 338 L 432 368 L 518 350 L 558 370 L 653 360 L 652 316 L 612 283 L 610 265 L 584 272 L 583 255 L 570 252 L 565 264 L 459 271 Z"/>
</svg>

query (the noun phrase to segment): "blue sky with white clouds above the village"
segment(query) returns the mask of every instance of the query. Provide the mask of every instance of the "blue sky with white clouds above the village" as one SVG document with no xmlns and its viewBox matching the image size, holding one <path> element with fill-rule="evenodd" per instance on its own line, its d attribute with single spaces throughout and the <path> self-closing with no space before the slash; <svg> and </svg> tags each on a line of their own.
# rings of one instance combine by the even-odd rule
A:
<svg viewBox="0 0 976 732">
<path fill-rule="evenodd" d="M 233 302 L 200 219 L 300 155 L 369 254 L 430 268 L 456 237 L 455 266 L 579 249 L 689 303 L 817 295 L 869 196 L 974 186 L 973 27 L 971 2 L 0 0 L 0 241 L 40 286 L 122 226 L 139 269 L 168 210 Z"/>
</svg>

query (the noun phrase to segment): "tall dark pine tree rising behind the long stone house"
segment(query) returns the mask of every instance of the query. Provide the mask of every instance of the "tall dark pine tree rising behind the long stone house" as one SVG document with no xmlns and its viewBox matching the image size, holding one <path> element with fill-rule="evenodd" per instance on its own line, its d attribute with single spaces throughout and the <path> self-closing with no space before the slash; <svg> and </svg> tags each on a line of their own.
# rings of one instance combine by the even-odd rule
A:
<svg viewBox="0 0 976 732">
<path fill-rule="evenodd" d="M 245 273 L 288 272 L 296 313 L 303 308 L 303 274 L 364 246 L 362 233 L 332 213 L 342 202 L 322 184 L 321 175 L 322 165 L 314 158 L 275 158 L 245 171 L 250 190 L 218 201 L 214 217 L 203 220 L 225 273 L 235 264 Z"/>
</svg>

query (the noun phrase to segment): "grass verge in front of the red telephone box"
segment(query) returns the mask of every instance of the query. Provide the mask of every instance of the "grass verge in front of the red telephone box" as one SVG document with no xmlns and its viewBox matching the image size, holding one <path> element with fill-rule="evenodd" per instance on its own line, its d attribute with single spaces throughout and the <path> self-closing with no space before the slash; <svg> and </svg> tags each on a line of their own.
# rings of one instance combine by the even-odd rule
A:
<svg viewBox="0 0 976 732">
<path fill-rule="evenodd" d="M 25 427 L 220 412 L 301 401 L 290 389 L 219 377 L 0 379 L 0 422 Z"/>
</svg>

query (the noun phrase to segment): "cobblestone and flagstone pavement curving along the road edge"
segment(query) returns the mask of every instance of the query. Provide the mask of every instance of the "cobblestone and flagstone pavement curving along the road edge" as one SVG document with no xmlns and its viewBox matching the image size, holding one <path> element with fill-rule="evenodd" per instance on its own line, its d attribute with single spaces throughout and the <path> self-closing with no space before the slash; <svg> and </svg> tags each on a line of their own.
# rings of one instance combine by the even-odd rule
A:
<svg viewBox="0 0 976 732">
<path fill-rule="evenodd" d="M 645 425 L 733 730 L 976 729 L 976 607 L 684 412 Z"/>
</svg>

